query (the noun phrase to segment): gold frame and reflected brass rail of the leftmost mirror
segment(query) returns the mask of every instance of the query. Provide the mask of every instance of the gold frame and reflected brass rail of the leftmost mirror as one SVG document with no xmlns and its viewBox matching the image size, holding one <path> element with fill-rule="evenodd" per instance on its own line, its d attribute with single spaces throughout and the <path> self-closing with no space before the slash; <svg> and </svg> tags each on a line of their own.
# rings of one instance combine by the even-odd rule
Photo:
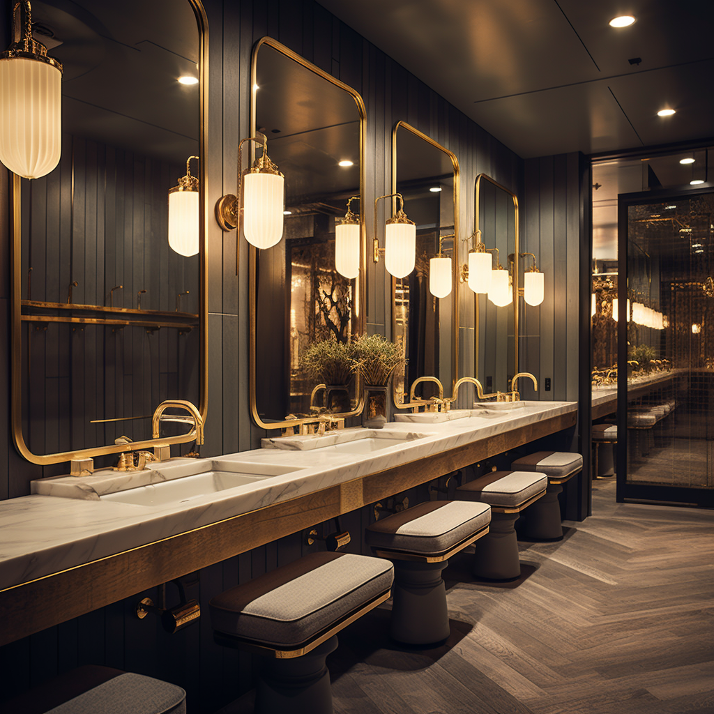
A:
<svg viewBox="0 0 714 714">
<path fill-rule="evenodd" d="M 198 324 L 199 324 L 199 362 L 200 362 L 200 391 L 201 397 L 199 401 L 198 411 L 205 423 L 208 413 L 208 263 L 207 263 L 207 236 L 208 236 L 208 217 L 212 216 L 212 211 L 208 211 L 208 171 L 206 170 L 208 157 L 208 17 L 206 10 L 203 8 L 201 0 L 188 0 L 193 13 L 196 16 L 196 24 L 198 29 L 198 56 L 200 58 L 198 66 L 198 81 L 199 81 L 199 136 L 198 142 L 200 146 L 201 161 L 199 162 L 199 175 L 201 182 L 201 201 L 199 203 L 199 219 L 203 226 L 201 235 L 198 273 L 201 284 L 201 291 L 198 297 Z M 73 185 L 74 190 L 74 185 Z M 22 305 L 24 301 L 21 296 L 21 179 L 16 174 L 12 174 L 12 201 L 11 201 L 11 226 L 12 237 L 10 241 L 10 263 L 11 269 L 11 308 L 10 308 L 10 334 L 11 334 L 11 431 L 13 441 L 17 451 L 23 458 L 31 463 L 37 463 L 41 466 L 46 466 L 51 463 L 62 463 L 64 461 L 78 461 L 94 456 L 103 456 L 110 453 L 121 453 L 127 450 L 126 443 L 114 444 L 111 446 L 96 446 L 93 448 L 77 449 L 76 451 L 62 451 L 59 453 L 35 454 L 29 450 L 22 433 L 22 323 L 23 321 L 48 321 L 47 318 L 37 316 L 23 316 Z M 38 306 L 36 301 L 28 301 L 30 306 Z M 51 306 L 52 303 L 45 303 L 46 306 Z M 64 306 L 77 309 L 79 306 Z M 93 306 L 81 306 L 84 308 Z M 106 308 L 103 308 L 106 310 Z M 116 311 L 116 310 L 115 310 Z M 129 311 L 133 313 L 134 311 Z M 142 311 L 144 312 L 144 311 Z M 149 311 L 146 311 L 148 313 Z M 176 314 L 176 313 L 174 313 Z M 91 318 L 55 318 L 56 322 L 81 322 L 95 324 L 118 324 L 124 326 L 125 321 L 110 321 L 110 320 L 92 320 Z M 130 321 L 126 321 L 127 324 Z M 146 321 L 138 321 L 131 324 L 138 326 L 154 327 L 145 324 Z M 169 326 L 169 323 L 166 323 Z M 183 328 L 181 324 L 172 323 L 171 326 Z M 193 325 L 186 324 L 187 329 Z M 193 432 L 186 435 L 171 436 L 166 438 L 144 439 L 144 441 L 133 441 L 131 450 L 137 451 L 140 449 L 151 449 L 156 446 L 157 441 L 161 446 L 168 444 L 189 443 L 193 441 Z"/>
</svg>

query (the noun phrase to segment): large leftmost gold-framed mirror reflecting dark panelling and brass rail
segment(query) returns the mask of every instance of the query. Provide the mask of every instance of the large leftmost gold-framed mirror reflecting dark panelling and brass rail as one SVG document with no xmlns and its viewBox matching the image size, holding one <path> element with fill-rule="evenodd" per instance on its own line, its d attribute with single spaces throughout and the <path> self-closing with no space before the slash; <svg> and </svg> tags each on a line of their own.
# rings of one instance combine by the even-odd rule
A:
<svg viewBox="0 0 714 714">
<path fill-rule="evenodd" d="M 62 156 L 12 188 L 12 431 L 42 465 L 194 441 L 198 423 L 169 415 L 150 438 L 168 399 L 207 413 L 206 14 L 199 0 L 73 7 L 32 4 L 64 64 Z M 189 157 L 191 256 L 168 232 Z"/>
</svg>

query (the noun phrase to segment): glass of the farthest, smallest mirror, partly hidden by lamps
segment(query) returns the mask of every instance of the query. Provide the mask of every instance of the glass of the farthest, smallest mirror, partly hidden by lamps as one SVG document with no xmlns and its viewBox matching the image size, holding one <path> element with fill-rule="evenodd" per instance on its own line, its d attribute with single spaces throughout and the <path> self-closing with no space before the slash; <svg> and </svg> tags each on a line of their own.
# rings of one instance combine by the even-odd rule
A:
<svg viewBox="0 0 714 714">
<path fill-rule="evenodd" d="M 493 253 L 493 268 L 510 268 L 508 256 L 518 253 L 518 210 L 513 193 L 485 174 L 476 178 L 476 230 Z M 496 248 L 497 251 L 493 251 Z M 509 391 L 518 373 L 518 353 L 513 339 L 517 330 L 516 306 L 511 300 L 496 306 L 486 295 L 476 295 L 476 378 L 485 393 Z"/>
</svg>

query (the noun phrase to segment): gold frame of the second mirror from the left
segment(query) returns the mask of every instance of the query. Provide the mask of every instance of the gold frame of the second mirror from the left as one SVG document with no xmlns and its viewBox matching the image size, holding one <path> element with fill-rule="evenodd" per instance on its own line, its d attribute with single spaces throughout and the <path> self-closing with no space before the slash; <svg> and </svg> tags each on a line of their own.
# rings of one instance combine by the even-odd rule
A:
<svg viewBox="0 0 714 714">
<path fill-rule="evenodd" d="M 356 278 L 355 290 L 356 290 L 356 334 L 362 334 L 365 331 L 366 326 L 366 275 L 367 275 L 367 241 L 364 226 L 364 211 L 361 206 L 363 204 L 362 198 L 364 196 L 365 188 L 365 159 L 364 159 L 364 147 L 365 147 L 365 126 L 367 112 L 364 106 L 364 101 L 360 94 L 348 86 L 339 79 L 336 79 L 331 74 L 327 74 L 318 66 L 308 62 L 304 57 L 301 57 L 296 52 L 288 49 L 285 45 L 281 44 L 272 37 L 263 37 L 256 42 L 253 47 L 253 56 L 251 58 L 251 88 L 257 86 L 257 64 L 258 64 L 258 50 L 261 49 L 263 45 L 272 47 L 274 50 L 284 54 L 289 59 L 297 62 L 305 69 L 308 69 L 314 74 L 326 79 L 331 84 L 334 84 L 338 89 L 342 89 L 349 94 L 352 99 L 354 99 L 357 111 L 359 114 L 359 156 L 360 156 L 360 166 L 359 166 L 359 193 L 360 193 L 360 270 L 359 276 Z M 251 136 L 256 134 L 256 90 L 251 89 Z M 238 236 L 240 238 L 240 236 Z M 248 329 L 248 382 L 250 386 L 249 398 L 251 406 L 251 416 L 253 421 L 262 429 L 285 429 L 293 426 L 298 426 L 303 423 L 313 423 L 316 417 L 311 416 L 301 419 L 287 419 L 283 421 L 271 421 L 265 422 L 261 419 L 258 414 L 258 406 L 256 403 L 256 256 L 258 255 L 258 248 L 255 246 L 248 246 L 248 320 L 250 322 Z M 360 385 L 358 376 L 356 376 L 356 388 L 355 392 L 357 395 L 356 408 L 353 411 L 334 413 L 332 416 L 340 418 L 348 418 L 351 416 L 358 416 L 362 413 L 364 408 L 364 394 Z"/>
</svg>

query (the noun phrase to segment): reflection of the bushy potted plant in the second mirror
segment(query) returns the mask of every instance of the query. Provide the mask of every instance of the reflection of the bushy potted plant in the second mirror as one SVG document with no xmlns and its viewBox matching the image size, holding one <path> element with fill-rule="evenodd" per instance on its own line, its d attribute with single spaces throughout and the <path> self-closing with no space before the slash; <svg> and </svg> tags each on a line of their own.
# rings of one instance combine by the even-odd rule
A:
<svg viewBox="0 0 714 714">
<path fill-rule="evenodd" d="M 353 348 L 334 336 L 312 343 L 301 358 L 306 375 L 326 386 L 326 407 L 330 413 L 351 411 L 350 381 L 353 373 Z M 312 406 L 312 405 L 311 405 Z"/>
</svg>

